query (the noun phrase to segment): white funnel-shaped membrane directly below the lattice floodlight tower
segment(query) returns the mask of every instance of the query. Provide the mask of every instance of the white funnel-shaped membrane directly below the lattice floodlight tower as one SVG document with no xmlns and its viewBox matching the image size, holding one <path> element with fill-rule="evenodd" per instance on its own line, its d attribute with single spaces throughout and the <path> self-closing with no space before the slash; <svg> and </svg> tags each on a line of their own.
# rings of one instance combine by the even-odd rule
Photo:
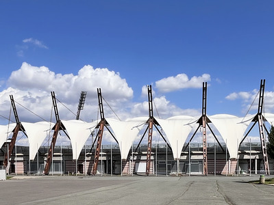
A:
<svg viewBox="0 0 274 205">
<path fill-rule="evenodd" d="M 86 140 L 97 126 L 98 121 L 84 122 L 82 120 L 62 120 L 62 123 L 71 139 L 73 160 L 76 160 L 78 159 Z"/>
</svg>

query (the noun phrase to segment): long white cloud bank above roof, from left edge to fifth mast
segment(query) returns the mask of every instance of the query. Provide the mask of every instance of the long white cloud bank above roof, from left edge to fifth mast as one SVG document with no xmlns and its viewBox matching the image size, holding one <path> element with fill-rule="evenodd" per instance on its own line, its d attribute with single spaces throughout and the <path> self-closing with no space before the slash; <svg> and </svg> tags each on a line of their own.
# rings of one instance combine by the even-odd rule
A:
<svg viewBox="0 0 274 205">
<path fill-rule="evenodd" d="M 56 74 L 45 66 L 32 66 L 24 62 L 21 68 L 12 72 L 7 85 L 8 88 L 0 92 L 0 114 L 8 117 L 9 95 L 12 94 L 16 101 L 18 117 L 22 122 L 38 122 L 43 119 L 55 122 L 51 91 L 54 91 L 56 98 L 62 102 L 58 101 L 58 111 L 62 120 L 75 119 L 79 94 L 82 91 L 88 92 L 80 118 L 87 122 L 97 120 L 99 118 L 97 88 L 99 87 L 104 99 L 103 109 L 106 118 L 118 116 L 121 120 L 125 120 L 149 115 L 147 85 L 142 87 L 145 100 L 132 102 L 132 88 L 127 85 L 125 79 L 121 79 L 118 72 L 108 68 L 93 68 L 88 65 L 79 69 L 76 75 Z M 159 96 L 154 91 L 153 111 L 155 117 L 158 117 L 159 113 L 160 118 L 163 119 L 174 115 L 200 115 L 200 111 L 195 109 L 180 109 L 165 96 Z M 13 114 L 12 119 L 14 119 Z"/>
</svg>

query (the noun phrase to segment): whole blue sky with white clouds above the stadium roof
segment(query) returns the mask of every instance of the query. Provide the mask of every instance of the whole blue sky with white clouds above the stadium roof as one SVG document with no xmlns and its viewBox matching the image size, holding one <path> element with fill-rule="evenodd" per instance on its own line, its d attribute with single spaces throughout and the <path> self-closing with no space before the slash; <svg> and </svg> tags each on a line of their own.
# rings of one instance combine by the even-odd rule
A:
<svg viewBox="0 0 274 205">
<path fill-rule="evenodd" d="M 82 118 L 94 120 L 101 87 L 120 118 L 148 115 L 144 86 L 151 84 L 161 118 L 199 115 L 202 82 L 208 81 L 209 115 L 245 116 L 260 79 L 266 79 L 265 109 L 274 113 L 273 6 L 273 1 L 1 1 L 0 114 L 8 117 L 13 94 L 49 119 L 50 91 L 76 113 L 80 91 L 88 90 Z M 105 107 L 106 117 L 114 116 Z M 18 115 L 39 121 L 23 109 Z M 63 108 L 60 115 L 74 118 Z"/>
</svg>

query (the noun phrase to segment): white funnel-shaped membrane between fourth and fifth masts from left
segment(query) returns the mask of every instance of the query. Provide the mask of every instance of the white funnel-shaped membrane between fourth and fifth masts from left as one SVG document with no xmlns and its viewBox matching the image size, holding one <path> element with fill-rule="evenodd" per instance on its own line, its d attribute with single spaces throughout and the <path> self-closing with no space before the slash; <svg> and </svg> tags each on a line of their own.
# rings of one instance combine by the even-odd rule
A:
<svg viewBox="0 0 274 205">
<path fill-rule="evenodd" d="M 182 148 L 192 130 L 192 122 L 195 118 L 186 115 L 179 115 L 166 120 L 158 119 L 157 122 L 162 126 L 164 133 L 166 133 L 167 139 L 173 152 L 173 158 L 179 159 L 181 156 Z"/>
</svg>

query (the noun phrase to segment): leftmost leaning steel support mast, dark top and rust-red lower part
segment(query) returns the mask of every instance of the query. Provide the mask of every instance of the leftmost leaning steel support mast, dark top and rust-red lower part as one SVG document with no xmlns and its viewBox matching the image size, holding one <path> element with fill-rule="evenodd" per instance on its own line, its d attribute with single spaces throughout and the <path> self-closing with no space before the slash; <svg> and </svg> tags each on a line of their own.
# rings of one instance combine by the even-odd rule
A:
<svg viewBox="0 0 274 205">
<path fill-rule="evenodd" d="M 3 165 L 5 165 L 5 166 L 8 166 L 8 158 L 10 158 L 10 155 L 12 154 L 12 151 L 14 150 L 14 146 L 15 146 L 15 142 L 16 142 L 18 132 L 23 131 L 23 133 L 27 136 L 27 134 L 25 133 L 25 128 L 23 127 L 23 125 L 21 124 L 21 122 L 18 118 L 14 98 L 13 98 L 12 95 L 10 95 L 10 102 L 12 103 L 12 110 L 13 110 L 13 113 L 14 113 L 16 126 L 15 126 L 14 130 L 12 131 L 13 135 L 12 135 L 12 139 L 10 141 L 9 148 L 8 148 L 7 152 L 5 152 L 5 158 L 4 158 L 4 161 L 3 161 Z"/>
</svg>

